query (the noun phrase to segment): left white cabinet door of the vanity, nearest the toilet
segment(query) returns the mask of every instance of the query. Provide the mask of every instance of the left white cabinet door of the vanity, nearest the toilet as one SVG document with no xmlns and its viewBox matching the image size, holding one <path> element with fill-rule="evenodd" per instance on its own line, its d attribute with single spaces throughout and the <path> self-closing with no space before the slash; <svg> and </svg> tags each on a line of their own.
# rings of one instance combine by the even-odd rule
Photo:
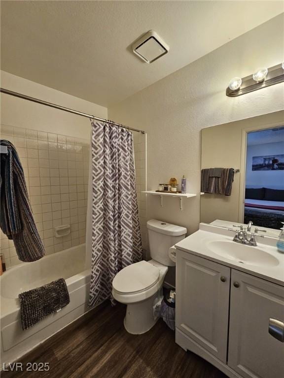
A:
<svg viewBox="0 0 284 378">
<path fill-rule="evenodd" d="M 178 329 L 226 362 L 230 268 L 178 251 L 176 292 Z"/>
</svg>

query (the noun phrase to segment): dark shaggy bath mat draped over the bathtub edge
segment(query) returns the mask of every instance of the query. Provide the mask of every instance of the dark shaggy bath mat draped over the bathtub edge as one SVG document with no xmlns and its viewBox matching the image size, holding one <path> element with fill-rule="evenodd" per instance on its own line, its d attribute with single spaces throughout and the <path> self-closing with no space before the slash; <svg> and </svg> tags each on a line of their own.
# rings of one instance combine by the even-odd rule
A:
<svg viewBox="0 0 284 378">
<path fill-rule="evenodd" d="M 19 294 L 22 328 L 28 329 L 47 315 L 61 310 L 70 303 L 70 296 L 63 278 L 50 284 Z"/>
</svg>

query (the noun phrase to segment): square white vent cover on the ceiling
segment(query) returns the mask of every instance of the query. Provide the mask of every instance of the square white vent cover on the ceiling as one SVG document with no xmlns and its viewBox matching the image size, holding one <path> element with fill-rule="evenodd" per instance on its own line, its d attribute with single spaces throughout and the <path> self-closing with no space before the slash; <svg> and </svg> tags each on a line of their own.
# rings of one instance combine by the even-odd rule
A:
<svg viewBox="0 0 284 378">
<path fill-rule="evenodd" d="M 167 54 L 169 46 L 156 32 L 150 30 L 132 45 L 132 50 L 144 62 L 152 63 Z"/>
</svg>

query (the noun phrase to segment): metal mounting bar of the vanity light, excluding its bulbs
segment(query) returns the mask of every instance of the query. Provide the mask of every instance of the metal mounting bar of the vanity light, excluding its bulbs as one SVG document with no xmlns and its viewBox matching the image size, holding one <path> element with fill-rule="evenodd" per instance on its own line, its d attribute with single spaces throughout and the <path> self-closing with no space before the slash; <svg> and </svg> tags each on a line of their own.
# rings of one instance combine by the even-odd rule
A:
<svg viewBox="0 0 284 378">
<path fill-rule="evenodd" d="M 226 95 L 229 97 L 237 97 L 282 82 L 284 82 L 284 69 L 282 68 L 282 63 L 280 63 L 268 69 L 268 74 L 264 81 L 256 83 L 252 75 L 249 75 L 242 78 L 242 85 L 239 89 L 232 90 L 228 87 L 226 89 Z"/>
</svg>

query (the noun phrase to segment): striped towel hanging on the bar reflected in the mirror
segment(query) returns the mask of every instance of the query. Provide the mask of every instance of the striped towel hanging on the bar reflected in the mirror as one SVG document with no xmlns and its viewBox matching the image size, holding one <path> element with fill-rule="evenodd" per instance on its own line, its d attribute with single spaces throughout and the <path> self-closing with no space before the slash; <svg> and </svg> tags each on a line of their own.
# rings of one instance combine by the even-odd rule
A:
<svg viewBox="0 0 284 378">
<path fill-rule="evenodd" d="M 214 175 L 214 172 L 218 174 Z M 221 174 L 219 175 L 219 170 Z M 201 170 L 201 191 L 204 193 L 231 195 L 234 168 L 206 168 Z"/>
</svg>

